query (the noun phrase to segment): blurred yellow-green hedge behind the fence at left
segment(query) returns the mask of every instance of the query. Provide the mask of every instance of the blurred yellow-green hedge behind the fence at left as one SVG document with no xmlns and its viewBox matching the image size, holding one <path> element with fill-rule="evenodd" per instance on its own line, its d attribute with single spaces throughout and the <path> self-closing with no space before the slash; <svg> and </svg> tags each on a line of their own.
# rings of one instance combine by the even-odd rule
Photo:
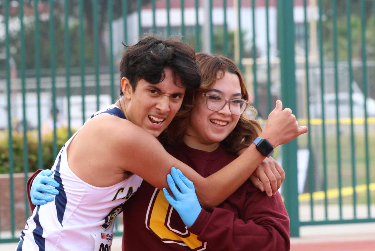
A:
<svg viewBox="0 0 375 251">
<path fill-rule="evenodd" d="M 65 142 L 69 139 L 68 129 L 62 127 L 57 129 L 57 151 L 60 151 Z M 72 132 L 74 133 L 74 132 Z M 6 134 L 6 136 L 5 136 Z M 13 160 L 14 172 L 24 172 L 23 156 L 23 133 L 13 132 Z M 27 133 L 27 150 L 28 150 L 28 171 L 34 172 L 38 168 L 38 138 L 37 132 Z M 55 161 L 53 155 L 53 133 L 47 133 L 42 136 L 42 156 L 43 169 L 50 169 Z M 9 173 L 9 138 L 7 132 L 0 137 L 0 174 Z"/>
</svg>

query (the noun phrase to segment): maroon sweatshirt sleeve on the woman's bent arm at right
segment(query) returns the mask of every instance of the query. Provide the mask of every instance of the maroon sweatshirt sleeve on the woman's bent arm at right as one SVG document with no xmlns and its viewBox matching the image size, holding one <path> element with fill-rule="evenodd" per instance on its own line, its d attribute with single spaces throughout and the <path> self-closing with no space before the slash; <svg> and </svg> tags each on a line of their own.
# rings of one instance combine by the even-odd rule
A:
<svg viewBox="0 0 375 251">
<path fill-rule="evenodd" d="M 248 194 L 238 195 L 246 196 L 240 216 L 233 204 L 224 202 L 212 212 L 202 210 L 188 230 L 206 241 L 209 249 L 218 251 L 289 250 L 289 218 L 280 194 L 268 197 L 252 187 Z"/>
</svg>

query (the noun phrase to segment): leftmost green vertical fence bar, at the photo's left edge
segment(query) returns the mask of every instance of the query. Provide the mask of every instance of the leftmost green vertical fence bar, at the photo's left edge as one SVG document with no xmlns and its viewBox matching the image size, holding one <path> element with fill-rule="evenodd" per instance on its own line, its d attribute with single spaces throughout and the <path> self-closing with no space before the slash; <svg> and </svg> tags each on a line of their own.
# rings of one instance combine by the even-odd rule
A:
<svg viewBox="0 0 375 251">
<path fill-rule="evenodd" d="M 9 151 L 9 198 L 10 198 L 10 229 L 12 231 L 12 238 L 14 238 L 15 231 L 15 209 L 14 209 L 14 189 L 13 189 L 13 173 L 14 173 L 14 159 L 13 159 L 13 138 L 12 138 L 12 109 L 11 109 L 11 79 L 10 79 L 10 41 L 9 41 L 9 0 L 4 3 L 5 11 L 5 48 L 6 48 L 6 86 L 7 86 L 7 106 L 8 106 L 8 151 Z"/>
</svg>

